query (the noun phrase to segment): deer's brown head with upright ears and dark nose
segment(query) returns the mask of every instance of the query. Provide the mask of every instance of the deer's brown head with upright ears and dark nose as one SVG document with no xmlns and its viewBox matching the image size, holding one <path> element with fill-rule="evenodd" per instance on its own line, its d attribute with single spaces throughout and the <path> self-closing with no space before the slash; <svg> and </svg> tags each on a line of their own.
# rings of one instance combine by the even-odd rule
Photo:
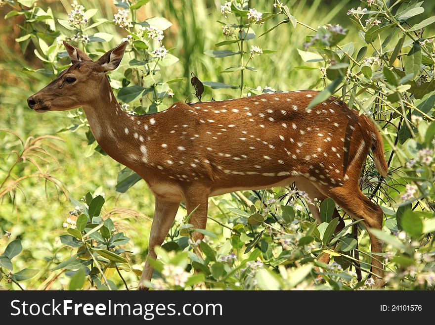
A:
<svg viewBox="0 0 435 325">
<path fill-rule="evenodd" d="M 37 112 L 63 111 L 88 105 L 95 93 L 105 86 L 106 72 L 115 70 L 124 55 L 127 42 L 112 48 L 92 61 L 85 52 L 63 42 L 72 65 L 38 93 L 27 98 L 27 104 Z"/>
</svg>

